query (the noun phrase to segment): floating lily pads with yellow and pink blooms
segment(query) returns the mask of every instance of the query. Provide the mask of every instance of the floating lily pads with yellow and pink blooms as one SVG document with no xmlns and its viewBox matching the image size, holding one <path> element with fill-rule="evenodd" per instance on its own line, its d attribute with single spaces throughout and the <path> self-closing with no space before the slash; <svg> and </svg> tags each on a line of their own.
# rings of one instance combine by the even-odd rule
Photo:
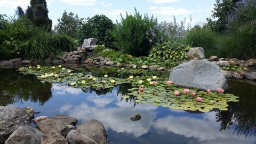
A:
<svg viewBox="0 0 256 144">
<path fill-rule="evenodd" d="M 125 69 L 119 69 L 119 73 Z M 151 102 L 155 106 L 169 107 L 173 109 L 191 110 L 209 112 L 213 109 L 228 110 L 229 101 L 238 101 L 238 97 L 233 94 L 223 93 L 221 88 L 216 92 L 198 91 L 193 89 L 182 89 L 173 84 L 167 78 L 157 76 L 133 76 L 124 78 L 93 77 L 83 73 L 74 73 L 74 70 L 58 67 L 22 67 L 19 68 L 22 74 L 36 75 L 42 83 L 59 83 L 59 85 L 68 85 L 78 89 L 86 90 L 90 87 L 94 89 L 108 89 L 122 83 L 130 83 L 132 89 L 130 93 L 122 95 L 122 98 L 135 98 L 135 102 Z"/>
</svg>

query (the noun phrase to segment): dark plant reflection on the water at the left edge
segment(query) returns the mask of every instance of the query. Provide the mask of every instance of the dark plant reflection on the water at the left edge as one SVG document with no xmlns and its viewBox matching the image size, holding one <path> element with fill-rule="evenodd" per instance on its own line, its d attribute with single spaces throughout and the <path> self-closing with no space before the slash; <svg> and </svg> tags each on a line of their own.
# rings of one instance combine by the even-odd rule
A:
<svg viewBox="0 0 256 144">
<path fill-rule="evenodd" d="M 41 83 L 35 76 L 21 75 L 14 68 L 0 69 L 0 106 L 23 101 L 43 106 L 52 98 L 52 84 Z"/>
</svg>

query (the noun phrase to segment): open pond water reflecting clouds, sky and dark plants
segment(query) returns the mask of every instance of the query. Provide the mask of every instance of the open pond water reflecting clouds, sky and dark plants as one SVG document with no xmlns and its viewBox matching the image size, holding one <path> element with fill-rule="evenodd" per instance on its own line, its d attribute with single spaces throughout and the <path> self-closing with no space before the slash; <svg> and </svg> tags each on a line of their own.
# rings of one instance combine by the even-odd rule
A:
<svg viewBox="0 0 256 144">
<path fill-rule="evenodd" d="M 228 86 L 240 98 L 227 111 L 190 113 L 121 98 L 129 84 L 82 91 L 11 68 L 0 69 L 0 106 L 33 107 L 41 111 L 36 117 L 68 115 L 78 124 L 97 119 L 114 143 L 256 143 L 256 85 L 230 80 Z M 140 121 L 129 119 L 138 113 Z"/>
</svg>

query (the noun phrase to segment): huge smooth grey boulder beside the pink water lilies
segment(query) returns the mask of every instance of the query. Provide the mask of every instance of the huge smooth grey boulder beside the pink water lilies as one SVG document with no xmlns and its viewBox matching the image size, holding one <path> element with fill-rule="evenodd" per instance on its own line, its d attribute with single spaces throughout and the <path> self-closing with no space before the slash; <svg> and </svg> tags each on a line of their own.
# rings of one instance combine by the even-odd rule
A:
<svg viewBox="0 0 256 144">
<path fill-rule="evenodd" d="M 191 60 L 175 67 L 169 77 L 170 81 L 181 87 L 199 90 L 210 89 L 215 91 L 218 87 L 228 89 L 227 79 L 222 75 L 220 67 L 207 60 Z"/>
</svg>

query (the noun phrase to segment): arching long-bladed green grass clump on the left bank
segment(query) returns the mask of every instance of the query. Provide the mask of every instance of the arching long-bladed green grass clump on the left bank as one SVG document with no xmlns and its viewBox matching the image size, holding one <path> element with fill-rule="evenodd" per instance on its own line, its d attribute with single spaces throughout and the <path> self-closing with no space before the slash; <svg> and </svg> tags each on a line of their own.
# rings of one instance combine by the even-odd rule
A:
<svg viewBox="0 0 256 144">
<path fill-rule="evenodd" d="M 21 55 L 32 60 L 46 59 L 51 53 L 72 51 L 75 42 L 68 36 L 54 34 L 44 28 L 34 28 L 27 41 L 21 44 Z"/>
</svg>

